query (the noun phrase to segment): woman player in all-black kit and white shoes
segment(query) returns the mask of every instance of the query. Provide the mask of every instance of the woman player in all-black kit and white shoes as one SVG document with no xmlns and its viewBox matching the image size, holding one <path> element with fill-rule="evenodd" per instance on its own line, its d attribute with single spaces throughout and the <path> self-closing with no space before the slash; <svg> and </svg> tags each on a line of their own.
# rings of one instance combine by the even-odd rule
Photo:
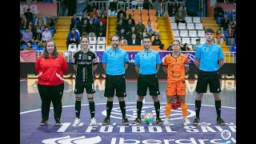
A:
<svg viewBox="0 0 256 144">
<path fill-rule="evenodd" d="M 74 94 L 75 99 L 75 114 L 73 126 L 78 126 L 80 120 L 81 100 L 84 89 L 86 88 L 87 98 L 90 107 L 90 125 L 96 125 L 94 118 L 94 70 L 97 68 L 97 54 L 89 49 L 89 38 L 81 38 L 81 50 L 74 53 L 73 66 L 76 71 Z"/>
</svg>

